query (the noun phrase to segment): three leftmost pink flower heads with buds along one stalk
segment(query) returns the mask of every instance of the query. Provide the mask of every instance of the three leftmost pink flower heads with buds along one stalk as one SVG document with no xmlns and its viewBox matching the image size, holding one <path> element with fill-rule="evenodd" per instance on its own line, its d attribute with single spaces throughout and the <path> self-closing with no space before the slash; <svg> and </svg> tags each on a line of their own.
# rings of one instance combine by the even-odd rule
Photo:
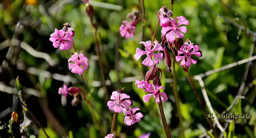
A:
<svg viewBox="0 0 256 138">
<path fill-rule="evenodd" d="M 72 44 L 74 45 L 74 39 L 72 37 L 75 35 L 75 31 L 69 23 L 64 23 L 63 25 L 64 27 L 61 30 L 55 29 L 54 33 L 50 35 L 50 41 L 54 48 L 68 51 L 72 47 Z M 74 74 L 83 74 L 88 69 L 88 66 L 88 58 L 78 52 L 75 52 L 68 60 L 68 68 Z M 72 105 L 75 106 L 81 101 L 80 91 L 82 89 L 79 87 L 68 88 L 68 86 L 64 85 L 59 88 L 58 93 L 64 95 L 64 97 L 67 97 L 68 94 L 73 95 Z"/>
</svg>

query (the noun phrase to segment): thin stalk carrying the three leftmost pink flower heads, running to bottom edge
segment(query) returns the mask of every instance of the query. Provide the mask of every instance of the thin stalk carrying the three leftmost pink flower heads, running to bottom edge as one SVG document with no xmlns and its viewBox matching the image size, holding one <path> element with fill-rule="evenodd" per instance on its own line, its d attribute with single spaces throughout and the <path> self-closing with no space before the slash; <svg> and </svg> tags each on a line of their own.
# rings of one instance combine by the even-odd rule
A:
<svg viewBox="0 0 256 138">
<path fill-rule="evenodd" d="M 73 43 L 73 48 L 74 48 L 74 52 L 76 52 L 76 47 L 75 47 L 74 43 Z M 98 122 L 98 119 L 96 118 L 96 115 L 95 115 L 95 113 L 94 113 L 94 111 L 93 111 L 93 109 L 92 109 L 92 104 L 91 104 L 91 102 L 90 102 L 90 99 L 87 98 L 88 92 L 87 92 L 86 85 L 85 85 L 85 82 L 84 82 L 84 77 L 83 77 L 82 74 L 81 74 L 80 76 L 81 76 L 82 83 L 83 83 L 83 86 L 84 86 L 84 92 L 81 91 L 82 98 L 86 101 L 86 103 L 87 103 L 87 105 L 88 105 L 88 107 L 89 107 L 89 110 L 90 110 L 90 112 L 91 112 L 91 114 L 92 114 L 93 121 L 94 121 L 94 122 L 96 123 L 96 125 L 98 126 L 98 128 L 99 128 L 99 130 L 100 130 L 100 134 L 104 137 L 104 136 L 105 136 L 105 133 L 102 131 L 102 129 L 101 129 L 101 127 L 100 127 L 100 123 Z"/>
</svg>

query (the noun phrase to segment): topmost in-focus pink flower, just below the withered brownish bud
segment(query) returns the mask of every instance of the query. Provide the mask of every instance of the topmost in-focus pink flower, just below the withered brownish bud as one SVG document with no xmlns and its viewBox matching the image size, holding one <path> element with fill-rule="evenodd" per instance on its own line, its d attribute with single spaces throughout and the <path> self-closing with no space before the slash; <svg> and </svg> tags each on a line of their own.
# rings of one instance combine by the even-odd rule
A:
<svg viewBox="0 0 256 138">
<path fill-rule="evenodd" d="M 178 23 L 176 23 L 176 20 L 178 19 Z M 162 35 L 166 34 L 166 40 L 168 42 L 173 42 L 175 40 L 175 37 L 177 38 L 183 38 L 183 33 L 187 32 L 187 27 L 180 25 L 189 25 L 189 21 L 183 17 L 176 17 L 175 19 L 170 21 L 172 23 L 172 26 L 162 27 Z M 169 32 L 170 31 L 170 32 Z"/>
</svg>

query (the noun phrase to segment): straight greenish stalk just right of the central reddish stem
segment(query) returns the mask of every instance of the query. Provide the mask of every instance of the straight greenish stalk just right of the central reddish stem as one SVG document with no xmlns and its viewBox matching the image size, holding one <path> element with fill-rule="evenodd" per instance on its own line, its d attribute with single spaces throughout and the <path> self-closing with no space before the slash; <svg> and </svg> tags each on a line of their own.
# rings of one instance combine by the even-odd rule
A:
<svg viewBox="0 0 256 138">
<path fill-rule="evenodd" d="M 185 138 L 185 133 L 184 133 L 184 130 L 183 130 L 183 126 L 182 126 L 182 114 L 181 114 L 181 109 L 180 109 L 180 101 L 179 101 L 179 98 L 178 98 L 178 91 L 177 91 L 177 81 L 176 81 L 176 70 L 175 70 L 175 63 L 174 62 L 175 60 L 175 57 L 173 56 L 172 54 L 172 72 L 173 72 L 173 95 L 174 95 L 174 98 L 175 98 L 175 104 L 176 104 L 176 107 L 177 107 L 177 110 L 178 110 L 178 116 L 179 116 L 179 120 L 180 120 L 180 132 L 181 132 L 181 137 L 182 138 Z"/>
</svg>

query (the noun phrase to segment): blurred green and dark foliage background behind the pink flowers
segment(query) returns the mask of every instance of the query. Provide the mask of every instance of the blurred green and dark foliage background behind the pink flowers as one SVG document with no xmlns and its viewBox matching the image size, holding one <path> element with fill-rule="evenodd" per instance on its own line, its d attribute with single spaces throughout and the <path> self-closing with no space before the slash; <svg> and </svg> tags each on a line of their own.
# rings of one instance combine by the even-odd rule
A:
<svg viewBox="0 0 256 138">
<path fill-rule="evenodd" d="M 102 2 L 102 3 L 97 3 Z M 138 0 L 95 0 L 94 22 L 98 25 L 98 38 L 107 79 L 108 95 L 112 91 L 125 87 L 130 95 L 134 107 L 140 107 L 144 117 L 142 121 L 132 126 L 124 124 L 124 115 L 118 114 L 115 134 L 120 138 L 138 138 L 141 134 L 151 132 L 150 138 L 164 138 L 164 129 L 159 117 L 158 105 L 151 99 L 148 103 L 142 100 L 142 90 L 135 86 L 135 80 L 142 80 L 146 71 L 142 64 L 134 60 L 136 48 L 141 47 L 140 41 L 152 39 L 148 25 L 152 31 L 156 27 L 157 14 L 162 6 L 170 9 L 170 0 L 144 0 L 146 21 L 136 25 L 134 37 L 124 39 L 120 37 L 119 27 L 126 15 L 134 6 L 138 7 Z M 108 5 L 114 4 L 114 5 Z M 210 8 L 207 9 L 205 6 Z M 218 16 L 216 13 L 220 14 Z M 192 76 L 209 70 L 218 69 L 224 65 L 254 56 L 253 36 L 246 36 L 246 31 L 240 30 L 226 21 L 222 16 L 243 27 L 256 31 L 256 0 L 175 0 L 173 15 L 184 16 L 190 21 L 184 40 L 190 40 L 199 45 L 203 57 L 198 63 L 190 67 Z M 23 25 L 22 32 L 15 31 L 16 24 Z M 0 121 L 7 123 L 11 117 L 14 101 L 12 87 L 19 75 L 21 84 L 26 87 L 25 99 L 28 108 L 34 113 L 40 123 L 46 128 L 50 138 L 70 136 L 70 138 L 100 138 L 97 126 L 92 120 L 85 102 L 72 107 L 72 96 L 67 99 L 58 94 L 58 88 L 63 84 L 82 88 L 80 76 L 68 70 L 67 60 L 72 55 L 70 51 L 59 51 L 49 41 L 54 29 L 62 29 L 63 23 L 70 23 L 75 30 L 74 43 L 76 50 L 88 57 L 89 68 L 83 74 L 92 106 L 100 120 L 102 129 L 110 133 L 113 112 L 106 106 L 102 85 L 102 76 L 96 52 L 90 20 L 85 14 L 85 5 L 80 0 L 2 0 L 0 4 Z M 142 26 L 144 37 L 142 38 Z M 17 36 L 16 36 L 16 35 Z M 17 41 L 10 43 L 12 38 L 22 41 L 20 50 L 14 52 L 14 57 L 8 59 L 6 54 L 9 47 L 15 47 Z M 161 39 L 161 27 L 158 28 L 156 39 Z M 32 50 L 31 50 L 32 48 Z M 34 49 L 34 50 L 33 50 Z M 48 61 L 46 61 L 44 58 Z M 164 102 L 164 113 L 173 138 L 179 135 L 179 120 L 172 91 L 172 73 L 165 70 L 163 61 L 158 64 L 163 70 L 162 86 L 168 95 Z M 246 79 L 244 80 L 244 74 Z M 221 113 L 232 103 L 244 82 L 242 96 L 238 104 L 229 111 L 233 114 L 250 113 L 252 119 L 237 119 L 228 123 L 224 136 L 229 138 L 256 137 L 256 62 L 241 64 L 221 72 L 205 76 L 205 89 L 215 113 Z M 202 109 L 186 78 L 185 72 L 176 66 L 176 76 L 180 106 L 183 117 L 183 127 L 186 138 L 197 138 L 210 130 Z M 194 84 L 203 99 L 197 80 Z M 11 109 L 10 109 L 11 108 Z M 8 109 L 8 110 L 7 110 Z M 17 106 L 19 119 L 22 120 L 20 105 Z M 206 112 L 210 113 L 206 107 Z M 222 126 L 225 120 L 220 120 Z M 233 124 L 234 123 L 234 124 Z M 230 125 L 231 124 L 231 125 Z M 202 128 L 203 126 L 203 128 Z M 31 126 L 32 127 L 32 126 Z M 219 129 L 216 128 L 220 133 Z M 34 129 L 36 130 L 36 129 Z M 45 138 L 42 130 L 38 130 L 39 138 Z M 16 136 L 20 136 L 16 134 Z M 2 136 L 2 137 L 1 137 Z M 0 137 L 6 138 L 7 130 L 0 130 Z"/>
</svg>

